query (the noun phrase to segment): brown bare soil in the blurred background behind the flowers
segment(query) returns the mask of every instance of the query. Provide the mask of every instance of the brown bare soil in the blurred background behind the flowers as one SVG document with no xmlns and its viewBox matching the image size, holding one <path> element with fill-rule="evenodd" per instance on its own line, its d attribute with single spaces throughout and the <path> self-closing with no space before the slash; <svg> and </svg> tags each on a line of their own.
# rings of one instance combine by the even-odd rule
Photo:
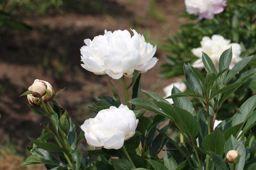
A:
<svg viewBox="0 0 256 170">
<path fill-rule="evenodd" d="M 184 1 L 156 1 L 158 18 L 150 15 L 150 1 L 104 2 L 106 12 L 90 14 L 70 10 L 63 15 L 57 12 L 39 16 L 24 14 L 18 18 L 33 26 L 33 31 L 1 30 L 0 143 L 10 140 L 15 143 L 17 152 L 24 154 L 25 146 L 32 145 L 27 136 L 39 137 L 39 124 L 48 122 L 45 117 L 30 111 L 26 96 L 19 97 L 35 79 L 48 81 L 55 91 L 66 87 L 55 100 L 68 110 L 77 125 L 94 114 L 88 106 L 93 105 L 95 96 L 113 96 L 109 80 L 122 98 L 121 80 L 110 79 L 107 75 L 96 76 L 80 66 L 79 49 L 84 39 L 103 35 L 105 29 L 132 28 L 147 39 L 164 43 L 164 39 L 175 34 L 184 22 L 178 18 L 185 10 Z M 164 95 L 163 87 L 175 81 L 159 81 L 159 67 L 166 62 L 164 56 L 167 54 L 157 50 L 155 56 L 159 61 L 142 75 L 142 89 Z M 126 81 L 129 84 L 131 79 L 126 78 Z M 146 99 L 143 94 L 141 96 Z"/>
</svg>

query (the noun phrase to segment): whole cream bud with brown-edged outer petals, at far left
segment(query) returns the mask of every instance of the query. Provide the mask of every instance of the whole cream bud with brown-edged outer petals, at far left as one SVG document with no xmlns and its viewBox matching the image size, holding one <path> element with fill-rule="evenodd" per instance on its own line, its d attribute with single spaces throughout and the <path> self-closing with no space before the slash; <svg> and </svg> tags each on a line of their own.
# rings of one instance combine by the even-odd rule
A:
<svg viewBox="0 0 256 170">
<path fill-rule="evenodd" d="M 29 87 L 29 90 L 31 91 L 31 94 L 28 95 L 28 101 L 29 101 L 29 104 L 33 106 L 40 106 L 40 99 L 39 99 L 40 97 L 46 103 L 50 101 L 55 95 L 52 85 L 44 80 L 36 79 L 34 83 Z M 34 91 L 37 90 L 37 92 L 34 92 L 33 90 Z M 44 92 L 44 95 L 41 95 L 41 96 L 38 95 L 42 92 Z"/>
</svg>

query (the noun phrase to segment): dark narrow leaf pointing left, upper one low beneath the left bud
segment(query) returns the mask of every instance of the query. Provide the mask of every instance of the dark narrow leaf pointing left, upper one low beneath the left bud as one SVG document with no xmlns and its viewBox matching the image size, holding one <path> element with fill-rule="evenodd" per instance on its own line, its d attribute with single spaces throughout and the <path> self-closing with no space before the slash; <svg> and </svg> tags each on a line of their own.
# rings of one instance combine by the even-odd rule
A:
<svg viewBox="0 0 256 170">
<path fill-rule="evenodd" d="M 60 148 L 58 145 L 49 143 L 49 142 L 41 142 L 37 139 L 34 139 L 32 137 L 29 137 L 29 139 L 35 143 L 39 148 L 44 149 L 46 151 L 50 152 L 67 152 L 65 148 Z"/>
</svg>

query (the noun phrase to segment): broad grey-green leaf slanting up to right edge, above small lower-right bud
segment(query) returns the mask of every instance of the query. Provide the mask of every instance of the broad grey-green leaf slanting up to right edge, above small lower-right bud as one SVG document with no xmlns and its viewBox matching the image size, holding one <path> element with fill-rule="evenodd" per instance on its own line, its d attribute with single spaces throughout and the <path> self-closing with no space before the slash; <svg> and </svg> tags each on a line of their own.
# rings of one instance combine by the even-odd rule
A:
<svg viewBox="0 0 256 170">
<path fill-rule="evenodd" d="M 239 108 L 238 112 L 234 114 L 232 120 L 232 126 L 246 122 L 252 111 L 256 108 L 256 95 L 251 96 L 245 103 Z"/>
</svg>

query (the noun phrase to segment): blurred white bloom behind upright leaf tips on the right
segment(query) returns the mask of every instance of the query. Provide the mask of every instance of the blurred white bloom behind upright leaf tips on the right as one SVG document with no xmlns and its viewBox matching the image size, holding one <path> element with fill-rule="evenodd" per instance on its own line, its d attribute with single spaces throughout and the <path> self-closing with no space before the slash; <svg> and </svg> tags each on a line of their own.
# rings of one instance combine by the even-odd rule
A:
<svg viewBox="0 0 256 170">
<path fill-rule="evenodd" d="M 199 59 L 193 63 L 194 67 L 203 68 L 202 52 L 206 53 L 212 62 L 214 63 L 217 70 L 219 70 L 219 59 L 221 54 L 232 46 L 232 60 L 229 69 L 233 68 L 239 61 L 242 60 L 241 45 L 238 43 L 230 43 L 230 40 L 224 39 L 221 35 L 213 35 L 210 37 L 203 37 L 201 47 L 194 48 L 191 52 Z"/>
</svg>

